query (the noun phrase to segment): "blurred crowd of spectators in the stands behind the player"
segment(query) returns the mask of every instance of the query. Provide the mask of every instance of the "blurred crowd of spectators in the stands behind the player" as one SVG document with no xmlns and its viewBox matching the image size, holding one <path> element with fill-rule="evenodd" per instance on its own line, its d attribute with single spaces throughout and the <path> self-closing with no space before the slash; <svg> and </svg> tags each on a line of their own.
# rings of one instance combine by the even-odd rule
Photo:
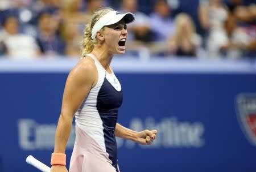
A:
<svg viewBox="0 0 256 172">
<path fill-rule="evenodd" d="M 126 54 L 256 58 L 256 3 L 245 0 L 1 0 L 0 58 L 80 58 L 93 11 L 133 12 Z"/>
</svg>

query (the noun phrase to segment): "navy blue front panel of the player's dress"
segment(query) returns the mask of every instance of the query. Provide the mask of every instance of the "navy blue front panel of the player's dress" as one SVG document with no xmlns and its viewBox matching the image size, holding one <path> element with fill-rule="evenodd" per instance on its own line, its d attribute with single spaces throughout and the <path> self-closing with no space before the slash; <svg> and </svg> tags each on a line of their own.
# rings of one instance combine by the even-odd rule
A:
<svg viewBox="0 0 256 172">
<path fill-rule="evenodd" d="M 113 166 L 117 169 L 117 142 L 115 141 L 115 125 L 117 124 L 118 108 L 122 105 L 123 93 L 117 91 L 105 78 L 98 92 L 97 110 L 103 122 L 106 152 Z M 118 169 L 117 169 L 118 171 Z"/>
</svg>

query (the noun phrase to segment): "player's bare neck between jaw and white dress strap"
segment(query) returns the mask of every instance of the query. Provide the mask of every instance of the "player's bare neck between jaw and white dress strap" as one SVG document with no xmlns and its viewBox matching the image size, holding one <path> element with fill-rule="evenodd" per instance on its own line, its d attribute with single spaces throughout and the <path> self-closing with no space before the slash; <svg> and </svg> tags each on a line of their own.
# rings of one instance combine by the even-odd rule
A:
<svg viewBox="0 0 256 172">
<path fill-rule="evenodd" d="M 107 72 L 111 73 L 110 63 L 114 56 L 113 54 L 110 54 L 108 50 L 98 46 L 94 47 L 91 54 L 93 54 L 98 59 L 98 61 L 101 63 L 101 65 L 105 68 Z"/>
</svg>

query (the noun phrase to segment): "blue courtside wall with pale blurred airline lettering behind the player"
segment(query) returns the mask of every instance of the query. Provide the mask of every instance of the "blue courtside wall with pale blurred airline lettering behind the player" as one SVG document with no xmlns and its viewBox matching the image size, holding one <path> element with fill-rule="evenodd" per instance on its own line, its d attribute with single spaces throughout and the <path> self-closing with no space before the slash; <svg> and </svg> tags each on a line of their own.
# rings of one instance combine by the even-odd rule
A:
<svg viewBox="0 0 256 172">
<path fill-rule="evenodd" d="M 25 162 L 29 154 L 49 165 L 67 75 L 0 72 L 0 171 L 37 171 Z M 256 147 L 246 138 L 236 111 L 238 94 L 256 93 L 255 70 L 150 72 L 149 68 L 117 70 L 116 75 L 124 98 L 118 122 L 134 130 L 158 129 L 150 146 L 118 139 L 121 171 L 256 170 Z M 67 147 L 68 161 L 73 139 L 74 135 Z"/>
</svg>

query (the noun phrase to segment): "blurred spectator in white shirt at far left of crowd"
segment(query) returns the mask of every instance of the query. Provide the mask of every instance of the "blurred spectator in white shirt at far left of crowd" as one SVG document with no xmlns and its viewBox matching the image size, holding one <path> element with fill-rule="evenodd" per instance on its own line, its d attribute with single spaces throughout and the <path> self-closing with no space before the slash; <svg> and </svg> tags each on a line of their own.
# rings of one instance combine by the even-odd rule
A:
<svg viewBox="0 0 256 172">
<path fill-rule="evenodd" d="M 36 58 L 41 54 L 34 37 L 19 33 L 19 21 L 14 15 L 6 16 L 0 42 L 10 58 Z"/>
</svg>

